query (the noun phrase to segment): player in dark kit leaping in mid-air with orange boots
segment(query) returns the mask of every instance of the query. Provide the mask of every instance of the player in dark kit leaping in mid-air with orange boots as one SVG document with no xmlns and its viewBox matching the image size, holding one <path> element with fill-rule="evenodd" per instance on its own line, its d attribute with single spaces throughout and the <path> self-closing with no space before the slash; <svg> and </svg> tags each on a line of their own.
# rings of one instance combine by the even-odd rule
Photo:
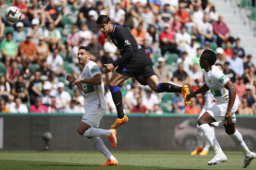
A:
<svg viewBox="0 0 256 170">
<path fill-rule="evenodd" d="M 179 87 L 167 82 L 159 83 L 152 68 L 152 60 L 146 55 L 145 50 L 137 44 L 128 28 L 112 25 L 107 15 L 100 15 L 97 24 L 101 32 L 105 36 L 109 36 L 119 48 L 121 56 L 113 63 L 104 64 L 106 67 L 104 72 L 106 73 L 116 69 L 109 82 L 110 92 L 118 110 L 118 118 L 111 126 L 112 128 L 117 128 L 128 122 L 128 117 L 123 113 L 119 84 L 129 77 L 135 77 L 141 85 L 149 85 L 155 93 L 182 93 L 185 104 L 190 105 L 191 101 L 186 100 L 187 94 L 190 93 L 189 86 Z"/>
</svg>

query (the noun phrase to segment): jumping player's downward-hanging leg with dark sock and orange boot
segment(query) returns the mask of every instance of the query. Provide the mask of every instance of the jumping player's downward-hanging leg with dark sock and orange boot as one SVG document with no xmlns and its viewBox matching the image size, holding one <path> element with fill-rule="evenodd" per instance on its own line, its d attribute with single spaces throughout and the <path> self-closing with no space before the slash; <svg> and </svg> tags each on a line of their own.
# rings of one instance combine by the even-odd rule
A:
<svg viewBox="0 0 256 170">
<path fill-rule="evenodd" d="M 129 77 L 130 76 L 120 75 L 118 72 L 115 72 L 114 75 L 110 78 L 109 88 L 118 111 L 118 118 L 116 119 L 116 122 L 111 126 L 111 128 L 117 128 L 120 125 L 127 123 L 129 120 L 128 117 L 123 113 L 122 95 L 119 88 L 119 84 Z"/>
</svg>

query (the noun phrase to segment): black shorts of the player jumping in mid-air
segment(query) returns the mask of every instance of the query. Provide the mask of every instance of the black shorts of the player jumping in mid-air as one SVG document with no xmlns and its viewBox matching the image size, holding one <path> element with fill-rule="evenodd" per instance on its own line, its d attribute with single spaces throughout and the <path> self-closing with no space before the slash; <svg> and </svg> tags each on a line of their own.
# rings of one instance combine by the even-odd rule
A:
<svg viewBox="0 0 256 170">
<path fill-rule="evenodd" d="M 132 61 L 116 70 L 120 75 L 135 77 L 141 85 L 147 85 L 146 77 L 155 75 L 151 59 L 144 61 Z"/>
</svg>

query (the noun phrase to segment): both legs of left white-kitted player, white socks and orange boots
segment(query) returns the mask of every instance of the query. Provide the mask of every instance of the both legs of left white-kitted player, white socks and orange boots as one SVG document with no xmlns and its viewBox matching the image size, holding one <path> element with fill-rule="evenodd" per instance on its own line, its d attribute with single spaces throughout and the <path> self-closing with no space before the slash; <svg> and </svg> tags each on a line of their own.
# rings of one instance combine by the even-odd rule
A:
<svg viewBox="0 0 256 170">
<path fill-rule="evenodd" d="M 101 166 L 115 166 L 118 165 L 118 160 L 111 154 L 108 148 L 105 146 L 100 136 L 108 136 L 112 146 L 117 145 L 117 131 L 115 129 L 101 129 L 96 127 L 90 127 L 88 124 L 81 122 L 78 127 L 78 132 L 82 136 L 87 137 L 90 142 L 99 150 L 106 158 L 107 161 Z"/>
</svg>

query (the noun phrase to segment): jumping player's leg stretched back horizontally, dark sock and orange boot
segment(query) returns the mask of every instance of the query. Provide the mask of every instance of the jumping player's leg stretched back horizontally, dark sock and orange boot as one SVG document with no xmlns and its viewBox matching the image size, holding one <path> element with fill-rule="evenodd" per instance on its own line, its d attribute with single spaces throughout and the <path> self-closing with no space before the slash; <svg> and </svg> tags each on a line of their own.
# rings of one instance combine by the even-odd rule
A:
<svg viewBox="0 0 256 170">
<path fill-rule="evenodd" d="M 146 78 L 146 82 L 155 93 L 182 93 L 186 106 L 191 105 L 191 100 L 186 100 L 187 95 L 190 93 L 190 88 L 188 85 L 179 87 L 167 82 L 159 83 L 158 77 L 155 75 L 148 76 Z"/>
</svg>

